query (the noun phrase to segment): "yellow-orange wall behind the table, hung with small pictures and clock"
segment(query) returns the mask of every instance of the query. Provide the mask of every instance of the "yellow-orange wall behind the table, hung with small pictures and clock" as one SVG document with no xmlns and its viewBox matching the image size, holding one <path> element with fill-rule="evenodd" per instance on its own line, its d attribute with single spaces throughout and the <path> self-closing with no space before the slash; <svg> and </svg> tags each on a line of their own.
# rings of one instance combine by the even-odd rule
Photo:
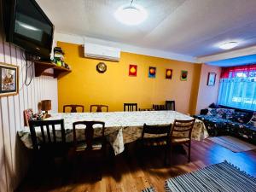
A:
<svg viewBox="0 0 256 192">
<path fill-rule="evenodd" d="M 119 62 L 104 61 L 106 73 L 97 73 L 98 60 L 84 58 L 81 45 L 58 42 L 65 61 L 72 67 L 58 79 L 59 111 L 64 104 L 106 104 L 109 111 L 122 111 L 124 102 L 137 102 L 138 108 L 152 108 L 175 100 L 177 111 L 195 113 L 201 65 L 172 61 L 147 55 L 121 53 Z M 128 76 L 129 64 L 137 65 L 137 77 Z M 148 67 L 157 67 L 156 78 L 148 78 Z M 165 79 L 166 68 L 172 68 L 172 79 Z M 181 70 L 188 70 L 187 81 L 180 80 Z"/>
</svg>

